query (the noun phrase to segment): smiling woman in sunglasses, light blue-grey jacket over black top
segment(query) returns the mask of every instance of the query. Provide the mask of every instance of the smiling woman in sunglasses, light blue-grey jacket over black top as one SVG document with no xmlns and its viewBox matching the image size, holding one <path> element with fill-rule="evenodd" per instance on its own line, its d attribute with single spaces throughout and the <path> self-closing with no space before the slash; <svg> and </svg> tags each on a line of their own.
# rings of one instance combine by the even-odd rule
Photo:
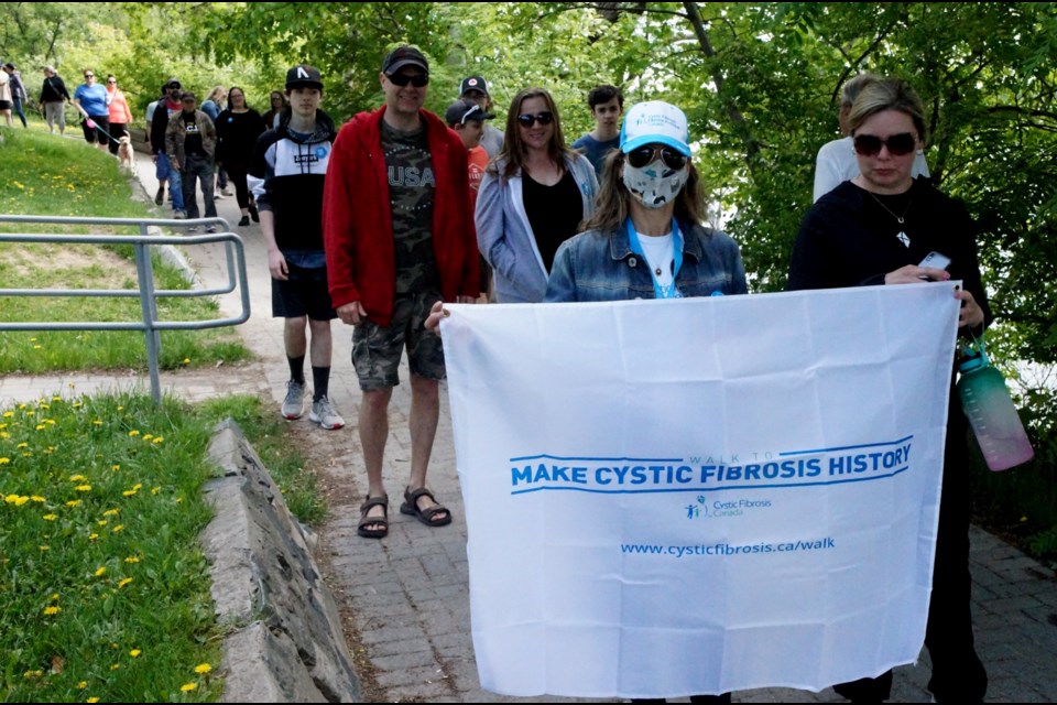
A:
<svg viewBox="0 0 1057 705">
<path fill-rule="evenodd" d="M 538 303 L 558 246 L 593 213 L 595 167 L 565 144 L 558 109 L 543 88 L 510 104 L 503 147 L 477 196 L 477 243 L 494 272 L 499 303 Z"/>
</svg>

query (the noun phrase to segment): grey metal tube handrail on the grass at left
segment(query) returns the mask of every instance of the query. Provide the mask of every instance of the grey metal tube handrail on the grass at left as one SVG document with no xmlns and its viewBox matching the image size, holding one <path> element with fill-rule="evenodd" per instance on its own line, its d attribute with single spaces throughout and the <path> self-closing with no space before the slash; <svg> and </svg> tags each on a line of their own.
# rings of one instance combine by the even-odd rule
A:
<svg viewBox="0 0 1057 705">
<path fill-rule="evenodd" d="M 137 218 L 84 218 L 61 216 L 14 216 L 0 215 L 0 223 L 48 224 L 48 225 L 105 225 L 109 227 L 139 227 L 140 235 L 57 235 L 3 232 L 0 242 L 51 242 L 79 245 L 131 245 L 135 253 L 135 270 L 139 291 L 130 289 L 0 289 L 0 296 L 108 296 L 140 299 L 143 319 L 135 322 L 29 322 L 10 323 L 0 321 L 0 330 L 142 330 L 146 338 L 148 368 L 151 375 L 151 395 L 161 402 L 162 390 L 159 378 L 159 351 L 161 330 L 199 330 L 219 328 L 246 323 L 250 318 L 250 293 L 246 273 L 246 248 L 242 239 L 230 231 L 224 218 L 200 218 L 196 220 L 161 220 Z M 188 236 L 149 235 L 151 227 L 181 228 L 188 226 L 220 226 L 224 232 Z M 225 243 L 227 282 L 215 289 L 154 289 L 154 268 L 151 262 L 152 247 L 174 247 Z M 208 321 L 159 321 L 157 299 L 215 296 L 238 290 L 242 311 L 231 317 Z"/>
</svg>

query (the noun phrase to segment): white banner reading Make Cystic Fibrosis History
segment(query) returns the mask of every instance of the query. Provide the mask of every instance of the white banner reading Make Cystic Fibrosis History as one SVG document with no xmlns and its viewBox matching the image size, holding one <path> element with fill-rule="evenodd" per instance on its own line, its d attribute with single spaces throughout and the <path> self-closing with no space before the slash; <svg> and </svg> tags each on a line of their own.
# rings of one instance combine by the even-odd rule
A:
<svg viewBox="0 0 1057 705">
<path fill-rule="evenodd" d="M 917 659 L 950 283 L 449 310 L 482 687 L 817 692 Z"/>
</svg>

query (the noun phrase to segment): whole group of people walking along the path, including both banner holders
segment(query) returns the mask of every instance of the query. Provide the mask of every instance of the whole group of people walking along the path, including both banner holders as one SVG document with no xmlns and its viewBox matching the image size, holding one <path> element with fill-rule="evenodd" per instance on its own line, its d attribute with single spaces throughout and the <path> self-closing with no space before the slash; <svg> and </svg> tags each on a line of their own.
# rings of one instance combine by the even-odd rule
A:
<svg viewBox="0 0 1057 705">
<path fill-rule="evenodd" d="M 56 122 L 62 131 L 69 96 L 53 69 L 45 76 L 41 101 L 50 128 Z M 92 72 L 84 76 L 73 101 L 86 118 L 85 139 L 106 149 L 131 116 L 112 76 L 106 88 Z M 345 426 L 329 401 L 331 321 L 353 327 L 368 476 L 358 533 L 366 539 L 389 533 L 382 468 L 405 351 L 412 449 L 400 512 L 431 529 L 453 522 L 427 486 L 445 379 L 437 335 L 445 302 L 749 294 L 738 243 L 706 225 L 707 188 L 679 107 L 644 100 L 625 112 L 621 88 L 602 84 L 586 96 L 595 129 L 567 144 L 559 107 L 543 87 L 517 90 L 500 130 L 489 123 L 495 111 L 482 76 L 460 82 L 443 118 L 424 109 L 429 61 L 414 46 L 389 52 L 378 80 L 384 104 L 341 126 L 322 109 L 324 79 L 307 64 L 288 69 L 264 116 L 236 86 L 218 87 L 199 108 L 177 78 L 162 86 L 146 116 L 159 205 L 167 182 L 174 217 L 198 218 L 197 181 L 205 216 L 215 217 L 215 170 L 222 164 L 242 213 L 239 225 L 260 223 L 272 314 L 284 325 L 285 419 L 304 414 L 310 387 L 309 421 L 325 430 Z M 848 82 L 841 98 L 843 137 L 818 152 L 815 203 L 795 240 L 789 289 L 958 279 L 959 335 L 982 335 L 991 313 L 977 227 L 928 178 L 920 98 L 905 80 L 870 74 Z M 933 252 L 949 265 L 928 265 Z M 938 373 L 952 376 L 951 362 Z M 925 643 L 935 698 L 981 702 L 987 674 L 973 647 L 969 601 L 967 424 L 956 400 L 949 400 Z M 891 684 L 887 672 L 835 687 L 853 702 L 878 702 Z M 691 701 L 730 702 L 730 694 Z"/>
</svg>

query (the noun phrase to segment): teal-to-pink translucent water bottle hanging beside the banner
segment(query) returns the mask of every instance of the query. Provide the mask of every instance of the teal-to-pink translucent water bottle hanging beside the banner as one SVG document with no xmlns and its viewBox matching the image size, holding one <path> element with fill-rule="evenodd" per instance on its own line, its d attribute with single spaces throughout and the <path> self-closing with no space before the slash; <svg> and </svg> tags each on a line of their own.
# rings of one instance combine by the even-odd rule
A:
<svg viewBox="0 0 1057 705">
<path fill-rule="evenodd" d="M 1010 398 L 1005 379 L 991 366 L 981 344 L 961 348 L 958 394 L 988 467 L 1006 470 L 1035 456 L 1024 425 Z M 949 438 L 948 438 L 949 441 Z"/>
</svg>

